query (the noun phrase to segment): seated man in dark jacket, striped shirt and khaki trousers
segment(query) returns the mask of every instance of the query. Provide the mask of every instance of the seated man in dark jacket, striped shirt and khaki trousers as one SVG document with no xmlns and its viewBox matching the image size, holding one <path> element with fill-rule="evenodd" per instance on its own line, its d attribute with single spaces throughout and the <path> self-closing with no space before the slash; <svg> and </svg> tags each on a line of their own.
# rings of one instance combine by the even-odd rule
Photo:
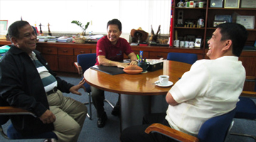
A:
<svg viewBox="0 0 256 142">
<path fill-rule="evenodd" d="M 87 107 L 62 92 L 80 95 L 85 80 L 73 85 L 56 77 L 36 50 L 36 34 L 28 22 L 12 23 L 8 33 L 12 45 L 0 61 L 0 97 L 37 116 L 11 116 L 14 128 L 24 136 L 53 131 L 58 141 L 77 141 Z"/>
</svg>

